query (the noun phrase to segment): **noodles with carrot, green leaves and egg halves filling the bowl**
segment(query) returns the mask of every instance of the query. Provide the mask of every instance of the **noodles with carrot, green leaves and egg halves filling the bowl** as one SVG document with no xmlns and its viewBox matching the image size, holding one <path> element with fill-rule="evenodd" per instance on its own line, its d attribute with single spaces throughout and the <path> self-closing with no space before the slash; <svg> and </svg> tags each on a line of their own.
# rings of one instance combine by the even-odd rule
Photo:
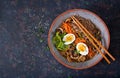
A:
<svg viewBox="0 0 120 78">
<path fill-rule="evenodd" d="M 102 43 L 101 31 L 90 20 L 80 15 L 75 16 L 85 28 Z M 56 28 L 52 42 L 58 52 L 68 62 L 85 62 L 98 54 L 83 32 L 77 28 L 74 21 L 68 17 Z"/>
</svg>

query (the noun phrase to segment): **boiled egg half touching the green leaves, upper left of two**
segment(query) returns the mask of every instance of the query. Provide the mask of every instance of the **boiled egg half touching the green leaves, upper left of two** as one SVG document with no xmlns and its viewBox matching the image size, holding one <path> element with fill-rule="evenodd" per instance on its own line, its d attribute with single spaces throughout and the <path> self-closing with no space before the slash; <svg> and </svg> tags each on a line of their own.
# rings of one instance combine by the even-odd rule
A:
<svg viewBox="0 0 120 78">
<path fill-rule="evenodd" d="M 75 41 L 75 35 L 74 34 L 66 34 L 64 37 L 63 37 L 63 41 L 65 42 L 64 44 L 65 45 L 69 45 L 71 43 L 73 43 Z"/>
</svg>

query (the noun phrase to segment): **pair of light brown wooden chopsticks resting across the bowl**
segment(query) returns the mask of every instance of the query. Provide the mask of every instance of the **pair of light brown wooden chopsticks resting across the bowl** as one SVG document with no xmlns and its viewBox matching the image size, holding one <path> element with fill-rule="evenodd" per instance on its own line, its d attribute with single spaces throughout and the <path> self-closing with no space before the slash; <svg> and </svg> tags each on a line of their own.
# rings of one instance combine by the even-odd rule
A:
<svg viewBox="0 0 120 78">
<path fill-rule="evenodd" d="M 97 51 L 102 55 L 102 57 L 107 61 L 108 64 L 111 62 L 109 59 L 102 53 L 102 51 L 98 48 L 102 48 L 104 52 L 113 60 L 115 61 L 115 58 L 101 45 L 101 43 L 76 19 L 75 16 L 71 17 L 73 22 L 77 25 L 77 27 L 83 32 L 83 34 L 89 39 L 89 41 L 92 43 L 92 45 L 97 49 Z M 98 45 L 96 45 L 96 44 Z"/>
</svg>

